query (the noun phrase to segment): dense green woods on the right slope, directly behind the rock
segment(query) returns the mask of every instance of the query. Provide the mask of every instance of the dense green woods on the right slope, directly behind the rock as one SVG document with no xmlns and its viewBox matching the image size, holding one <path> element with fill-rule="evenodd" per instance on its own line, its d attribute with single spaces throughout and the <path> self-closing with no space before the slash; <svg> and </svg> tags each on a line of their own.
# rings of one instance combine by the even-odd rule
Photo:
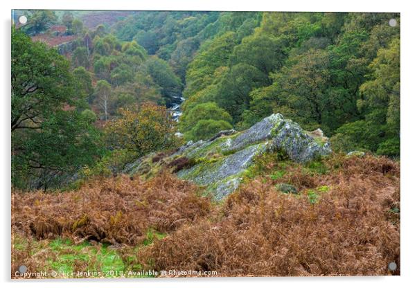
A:
<svg viewBox="0 0 417 288">
<path fill-rule="evenodd" d="M 195 106 L 215 102 L 238 129 L 279 112 L 320 127 L 336 150 L 398 156 L 400 28 L 391 18 L 398 15 L 263 13 L 247 37 L 219 33 L 188 66 L 182 131 L 196 125 Z"/>
</svg>

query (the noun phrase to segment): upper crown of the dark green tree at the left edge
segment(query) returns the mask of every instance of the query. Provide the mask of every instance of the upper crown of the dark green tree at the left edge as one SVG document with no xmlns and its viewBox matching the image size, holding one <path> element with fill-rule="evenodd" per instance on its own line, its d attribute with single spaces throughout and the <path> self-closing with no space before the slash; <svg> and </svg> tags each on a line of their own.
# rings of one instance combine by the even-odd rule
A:
<svg viewBox="0 0 417 288">
<path fill-rule="evenodd" d="M 37 129 L 57 107 L 73 105 L 69 62 L 12 29 L 12 132 Z"/>
</svg>

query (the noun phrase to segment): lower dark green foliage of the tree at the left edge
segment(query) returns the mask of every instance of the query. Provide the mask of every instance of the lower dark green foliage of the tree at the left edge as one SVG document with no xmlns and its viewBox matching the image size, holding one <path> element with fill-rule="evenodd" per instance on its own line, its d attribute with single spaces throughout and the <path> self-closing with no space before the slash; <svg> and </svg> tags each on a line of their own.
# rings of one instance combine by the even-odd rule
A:
<svg viewBox="0 0 417 288">
<path fill-rule="evenodd" d="M 19 188 L 53 188 L 100 156 L 100 133 L 91 114 L 55 111 L 39 129 L 12 134 L 12 183 Z"/>
</svg>

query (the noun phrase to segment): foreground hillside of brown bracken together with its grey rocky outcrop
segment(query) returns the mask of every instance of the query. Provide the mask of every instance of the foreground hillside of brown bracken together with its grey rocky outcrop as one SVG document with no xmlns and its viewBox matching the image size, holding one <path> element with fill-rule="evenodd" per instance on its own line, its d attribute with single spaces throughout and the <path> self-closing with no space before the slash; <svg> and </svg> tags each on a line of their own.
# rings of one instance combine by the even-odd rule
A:
<svg viewBox="0 0 417 288">
<path fill-rule="evenodd" d="M 145 155 L 127 166 L 130 176 L 91 179 L 59 194 L 15 190 L 12 262 L 32 271 L 100 267 L 91 253 L 111 244 L 110 265 L 122 271 L 387 275 L 386 263 L 399 263 L 398 163 L 326 156 L 321 138 L 281 115 L 223 134 Z M 251 147 L 256 153 L 242 156 Z M 73 260 L 51 246 L 59 237 Z"/>
</svg>

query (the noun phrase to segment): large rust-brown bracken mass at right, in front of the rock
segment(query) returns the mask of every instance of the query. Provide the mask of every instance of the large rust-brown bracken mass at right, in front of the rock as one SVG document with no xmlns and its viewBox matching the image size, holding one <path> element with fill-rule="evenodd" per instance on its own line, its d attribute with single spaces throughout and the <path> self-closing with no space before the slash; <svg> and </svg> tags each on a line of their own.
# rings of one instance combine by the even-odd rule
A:
<svg viewBox="0 0 417 288">
<path fill-rule="evenodd" d="M 208 217 L 139 250 L 139 263 L 229 277 L 399 274 L 398 164 L 365 156 L 341 165 L 316 174 L 315 186 L 300 195 L 276 193 L 268 177 L 254 179 Z M 389 271 L 389 262 L 398 269 Z"/>
</svg>

